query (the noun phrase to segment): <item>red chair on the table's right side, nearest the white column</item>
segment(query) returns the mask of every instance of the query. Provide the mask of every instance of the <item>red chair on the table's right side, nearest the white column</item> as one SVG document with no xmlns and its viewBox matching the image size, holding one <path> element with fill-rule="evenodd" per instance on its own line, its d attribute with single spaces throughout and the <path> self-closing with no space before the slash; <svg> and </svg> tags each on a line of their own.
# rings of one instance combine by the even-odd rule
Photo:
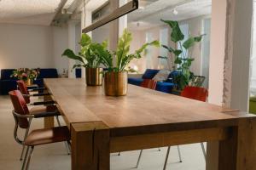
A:
<svg viewBox="0 0 256 170">
<path fill-rule="evenodd" d="M 199 100 L 199 101 L 202 101 L 202 102 L 206 102 L 207 97 L 208 97 L 208 90 L 206 88 L 187 86 L 183 89 L 183 91 L 181 93 L 181 96 L 185 97 L 185 98 L 189 98 L 189 99 L 196 99 L 196 100 Z M 164 170 L 166 169 L 170 149 L 171 149 L 171 146 L 169 146 L 168 149 L 167 149 Z M 180 150 L 179 150 L 178 145 L 177 145 L 177 150 L 178 150 L 178 154 L 179 154 L 179 159 L 181 161 L 181 154 L 180 154 Z M 206 159 L 207 158 L 207 152 L 205 150 L 205 146 L 204 146 L 203 143 L 201 143 L 201 150 L 202 150 L 203 155 Z"/>
</svg>

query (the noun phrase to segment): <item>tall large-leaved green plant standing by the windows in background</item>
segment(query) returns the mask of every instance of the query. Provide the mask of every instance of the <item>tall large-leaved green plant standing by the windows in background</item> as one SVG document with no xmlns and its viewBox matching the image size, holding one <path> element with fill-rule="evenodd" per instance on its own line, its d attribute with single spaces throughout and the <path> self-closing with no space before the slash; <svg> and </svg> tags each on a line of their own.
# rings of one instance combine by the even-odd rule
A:
<svg viewBox="0 0 256 170">
<path fill-rule="evenodd" d="M 172 60 L 174 60 L 174 64 L 177 65 L 176 70 L 180 71 L 180 74 L 173 77 L 173 81 L 177 84 L 177 88 L 182 90 L 189 84 L 190 80 L 194 76 L 193 72 L 190 71 L 190 66 L 195 59 L 192 57 L 192 50 L 190 48 L 192 48 L 196 42 L 201 42 L 204 35 L 200 35 L 198 37 L 189 37 L 189 39 L 183 42 L 184 35 L 177 21 L 161 21 L 170 26 L 172 30 L 171 41 L 175 44 L 175 46 L 168 47 L 166 45 L 162 45 L 162 47 L 169 51 L 171 57 L 173 57 Z"/>
</svg>

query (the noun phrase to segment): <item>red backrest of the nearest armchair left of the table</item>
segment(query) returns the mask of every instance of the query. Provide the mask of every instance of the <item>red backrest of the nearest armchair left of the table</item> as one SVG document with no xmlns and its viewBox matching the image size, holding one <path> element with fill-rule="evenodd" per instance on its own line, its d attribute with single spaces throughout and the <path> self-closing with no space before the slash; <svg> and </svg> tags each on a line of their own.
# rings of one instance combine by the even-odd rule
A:
<svg viewBox="0 0 256 170">
<path fill-rule="evenodd" d="M 13 90 L 9 92 L 10 99 L 14 106 L 14 111 L 20 115 L 28 115 L 29 111 L 26 105 L 26 101 L 23 95 L 20 93 L 19 90 Z M 15 115 L 14 115 L 15 116 Z M 17 117 L 15 116 L 15 120 L 17 121 L 20 128 L 27 128 L 28 121 L 27 118 Z"/>
</svg>

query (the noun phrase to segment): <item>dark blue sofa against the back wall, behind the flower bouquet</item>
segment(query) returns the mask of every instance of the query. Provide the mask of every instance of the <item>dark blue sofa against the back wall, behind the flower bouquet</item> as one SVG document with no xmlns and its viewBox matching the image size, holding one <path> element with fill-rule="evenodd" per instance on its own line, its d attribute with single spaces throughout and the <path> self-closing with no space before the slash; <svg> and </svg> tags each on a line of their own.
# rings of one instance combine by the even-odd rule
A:
<svg viewBox="0 0 256 170">
<path fill-rule="evenodd" d="M 6 95 L 9 91 L 17 89 L 17 79 L 10 77 L 15 69 L 3 69 L 1 70 L 0 79 L 0 95 Z M 37 80 L 34 81 L 38 84 L 38 87 L 42 88 L 44 86 L 44 78 L 57 78 L 58 72 L 56 69 L 40 69 L 40 74 Z"/>
</svg>

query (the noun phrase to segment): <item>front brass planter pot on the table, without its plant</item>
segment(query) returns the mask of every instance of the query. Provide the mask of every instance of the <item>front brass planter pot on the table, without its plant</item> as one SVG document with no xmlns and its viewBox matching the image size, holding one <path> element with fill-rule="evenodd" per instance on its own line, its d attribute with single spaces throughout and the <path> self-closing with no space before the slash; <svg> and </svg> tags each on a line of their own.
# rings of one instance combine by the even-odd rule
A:
<svg viewBox="0 0 256 170">
<path fill-rule="evenodd" d="M 124 96 L 127 94 L 128 74 L 122 72 L 106 72 L 104 77 L 105 94 L 108 96 Z"/>
</svg>

